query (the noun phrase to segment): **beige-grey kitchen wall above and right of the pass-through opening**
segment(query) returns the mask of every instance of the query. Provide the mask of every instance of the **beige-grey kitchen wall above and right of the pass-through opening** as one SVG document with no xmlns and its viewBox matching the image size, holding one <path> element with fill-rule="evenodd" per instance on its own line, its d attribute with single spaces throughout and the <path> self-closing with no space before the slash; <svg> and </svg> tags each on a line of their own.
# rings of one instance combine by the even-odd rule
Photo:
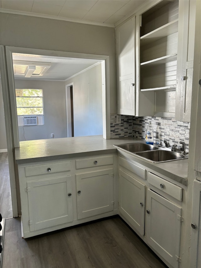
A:
<svg viewBox="0 0 201 268">
<path fill-rule="evenodd" d="M 0 43 L 5 46 L 108 55 L 111 113 L 117 112 L 115 29 L 56 19 L 0 14 Z"/>
</svg>

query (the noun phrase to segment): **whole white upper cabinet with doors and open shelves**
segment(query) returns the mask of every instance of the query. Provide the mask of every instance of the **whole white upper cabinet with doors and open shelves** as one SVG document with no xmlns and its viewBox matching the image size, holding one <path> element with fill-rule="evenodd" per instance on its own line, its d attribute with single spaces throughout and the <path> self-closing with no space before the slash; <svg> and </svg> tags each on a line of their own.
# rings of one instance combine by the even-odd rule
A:
<svg viewBox="0 0 201 268">
<path fill-rule="evenodd" d="M 190 121 L 195 1 L 155 3 L 116 28 L 118 113 Z"/>
</svg>

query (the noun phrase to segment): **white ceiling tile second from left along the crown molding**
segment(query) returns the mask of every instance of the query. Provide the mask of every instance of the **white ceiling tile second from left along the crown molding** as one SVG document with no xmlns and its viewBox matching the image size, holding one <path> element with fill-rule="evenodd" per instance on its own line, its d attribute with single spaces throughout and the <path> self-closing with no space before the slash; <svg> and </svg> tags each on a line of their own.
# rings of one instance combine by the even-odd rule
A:
<svg viewBox="0 0 201 268">
<path fill-rule="evenodd" d="M 33 4 L 31 12 L 33 13 L 39 13 L 39 14 L 46 14 L 51 16 L 57 16 L 59 12 L 61 11 L 61 6 L 55 6 L 55 5 L 47 5 L 41 2 L 35 2 Z"/>
</svg>

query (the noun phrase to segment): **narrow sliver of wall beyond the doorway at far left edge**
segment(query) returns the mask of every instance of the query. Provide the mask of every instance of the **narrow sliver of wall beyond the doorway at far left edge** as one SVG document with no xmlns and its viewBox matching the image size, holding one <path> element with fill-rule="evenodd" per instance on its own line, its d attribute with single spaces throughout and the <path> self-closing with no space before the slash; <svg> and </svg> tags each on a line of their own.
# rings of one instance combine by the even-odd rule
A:
<svg viewBox="0 0 201 268">
<path fill-rule="evenodd" d="M 4 110 L 3 110 L 2 87 L 0 79 L 0 152 L 5 151 L 7 151 L 7 141 L 6 141 Z"/>
</svg>

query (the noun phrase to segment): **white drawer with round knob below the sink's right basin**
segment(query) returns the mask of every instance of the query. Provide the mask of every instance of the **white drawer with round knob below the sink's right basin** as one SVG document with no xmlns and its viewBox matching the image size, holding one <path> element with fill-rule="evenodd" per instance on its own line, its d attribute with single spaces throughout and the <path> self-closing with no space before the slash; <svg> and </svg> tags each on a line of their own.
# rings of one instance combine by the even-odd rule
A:
<svg viewBox="0 0 201 268">
<path fill-rule="evenodd" d="M 182 201 L 182 188 L 170 183 L 152 173 L 148 175 L 149 184 L 160 189 L 162 192 L 171 195 L 175 199 Z M 151 186 L 150 186 L 151 188 Z"/>
</svg>

